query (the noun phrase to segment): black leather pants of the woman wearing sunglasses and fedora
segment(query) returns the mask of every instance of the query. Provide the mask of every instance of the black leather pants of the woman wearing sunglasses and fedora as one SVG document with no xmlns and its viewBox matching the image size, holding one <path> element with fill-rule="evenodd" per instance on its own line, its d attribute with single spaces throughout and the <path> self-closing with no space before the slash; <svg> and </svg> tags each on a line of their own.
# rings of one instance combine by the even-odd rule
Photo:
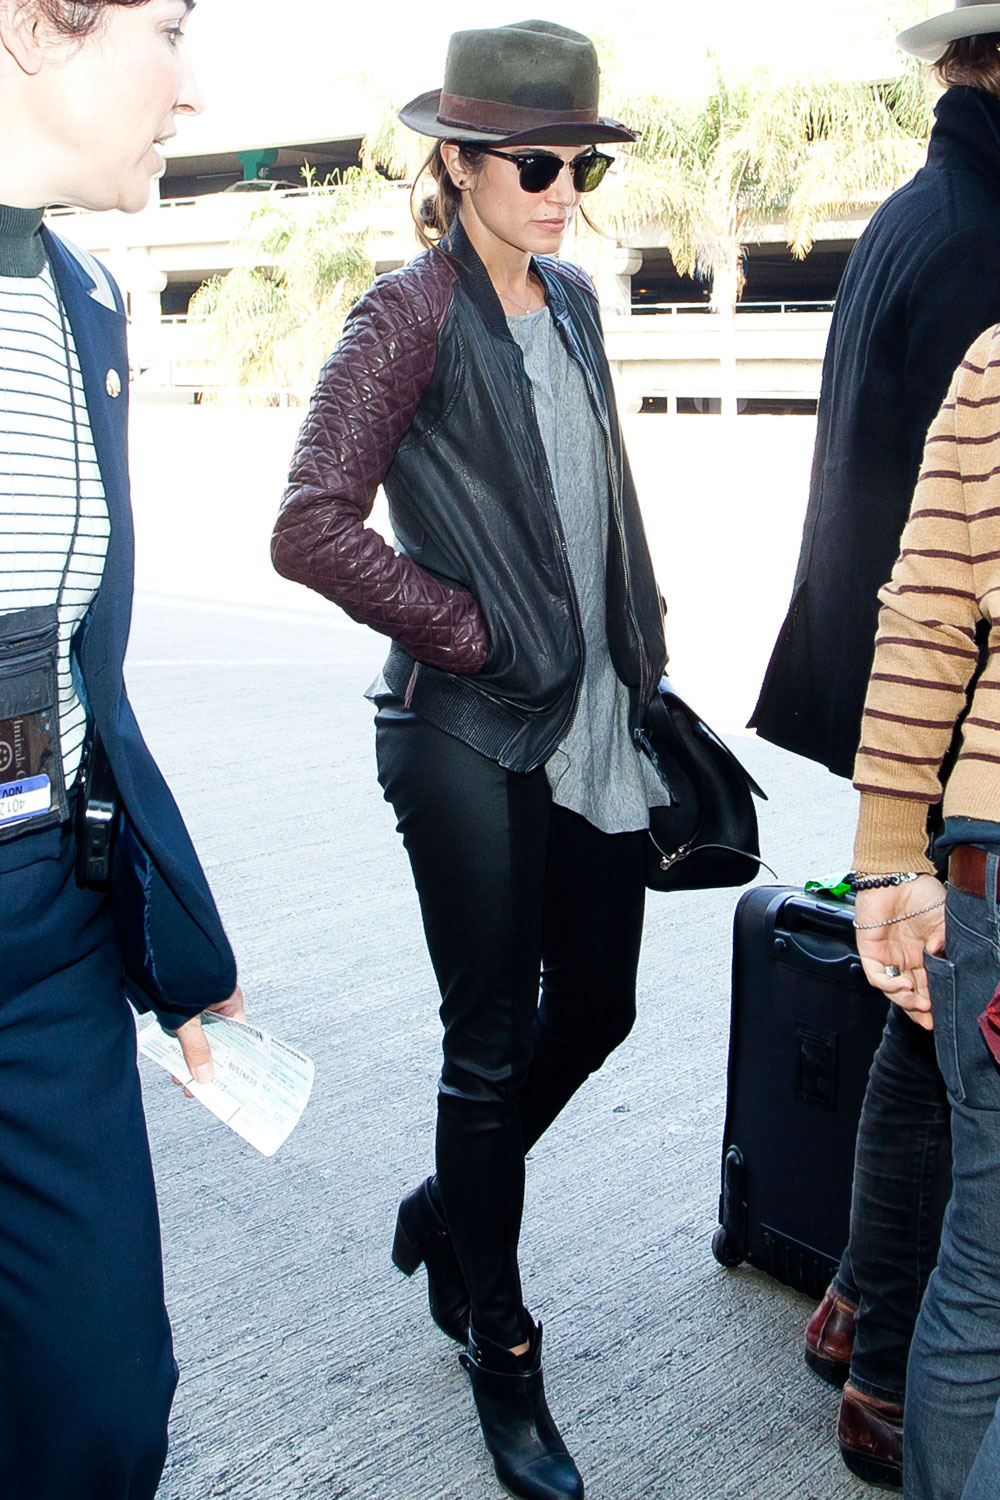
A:
<svg viewBox="0 0 1000 1500">
<path fill-rule="evenodd" d="M 553 807 L 544 770 L 504 771 L 399 699 L 375 723 L 441 988 L 444 1215 L 472 1326 L 513 1347 L 525 1152 L 636 1018 L 645 834 Z"/>
</svg>

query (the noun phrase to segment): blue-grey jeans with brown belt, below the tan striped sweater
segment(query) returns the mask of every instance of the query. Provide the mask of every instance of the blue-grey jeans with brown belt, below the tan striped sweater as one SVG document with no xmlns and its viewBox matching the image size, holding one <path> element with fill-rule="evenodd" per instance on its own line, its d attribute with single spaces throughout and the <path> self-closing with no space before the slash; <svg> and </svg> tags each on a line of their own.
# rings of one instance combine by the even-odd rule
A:
<svg viewBox="0 0 1000 1500">
<path fill-rule="evenodd" d="M 1000 858 L 987 861 L 996 892 Z M 949 890 L 946 957 L 928 957 L 934 1036 L 952 1107 L 955 1185 L 907 1374 L 907 1500 L 1000 1494 L 1000 1068 L 979 1032 L 1000 978 L 1000 914 Z"/>
</svg>

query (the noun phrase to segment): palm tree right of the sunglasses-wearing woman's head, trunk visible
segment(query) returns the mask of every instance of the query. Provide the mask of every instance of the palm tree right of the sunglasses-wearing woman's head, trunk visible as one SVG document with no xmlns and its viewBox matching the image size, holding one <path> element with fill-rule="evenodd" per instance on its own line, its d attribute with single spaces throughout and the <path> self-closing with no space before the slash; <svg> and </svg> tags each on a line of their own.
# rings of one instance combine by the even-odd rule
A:
<svg viewBox="0 0 1000 1500">
<path fill-rule="evenodd" d="M 678 273 L 711 279 L 723 410 L 735 412 L 747 240 L 778 220 L 792 254 L 807 255 L 820 219 L 870 206 L 921 165 L 931 106 L 919 69 L 882 86 L 766 72 L 730 81 L 718 64 L 714 74 L 708 96 L 694 102 L 621 100 L 639 140 L 609 178 L 601 219 L 622 238 L 661 226 Z"/>
</svg>

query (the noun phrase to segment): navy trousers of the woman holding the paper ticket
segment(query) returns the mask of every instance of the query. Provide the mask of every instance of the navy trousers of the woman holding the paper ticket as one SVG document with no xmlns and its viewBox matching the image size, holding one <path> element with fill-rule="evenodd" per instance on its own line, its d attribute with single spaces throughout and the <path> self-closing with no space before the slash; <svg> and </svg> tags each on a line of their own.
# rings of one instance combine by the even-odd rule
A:
<svg viewBox="0 0 1000 1500">
<path fill-rule="evenodd" d="M 177 1366 L 103 897 L 67 826 L 0 843 L 0 1494 L 151 1500 Z"/>
</svg>

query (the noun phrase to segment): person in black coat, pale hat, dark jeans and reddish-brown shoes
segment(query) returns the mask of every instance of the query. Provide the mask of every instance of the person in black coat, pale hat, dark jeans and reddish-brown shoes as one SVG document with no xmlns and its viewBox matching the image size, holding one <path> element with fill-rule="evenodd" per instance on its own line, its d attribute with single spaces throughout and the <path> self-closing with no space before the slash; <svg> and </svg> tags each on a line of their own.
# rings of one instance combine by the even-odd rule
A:
<svg viewBox="0 0 1000 1500">
<path fill-rule="evenodd" d="M 1000 321 L 1000 4 L 900 36 L 946 92 L 927 165 L 874 214 L 837 297 L 792 603 L 751 726 L 850 776 L 879 614 L 927 429 L 966 350 Z M 841 1384 L 838 1440 L 898 1488 L 906 1365 L 951 1192 L 949 1110 L 933 1034 L 898 1006 L 862 1108 L 850 1244 L 807 1328 L 807 1362 Z"/>
</svg>

